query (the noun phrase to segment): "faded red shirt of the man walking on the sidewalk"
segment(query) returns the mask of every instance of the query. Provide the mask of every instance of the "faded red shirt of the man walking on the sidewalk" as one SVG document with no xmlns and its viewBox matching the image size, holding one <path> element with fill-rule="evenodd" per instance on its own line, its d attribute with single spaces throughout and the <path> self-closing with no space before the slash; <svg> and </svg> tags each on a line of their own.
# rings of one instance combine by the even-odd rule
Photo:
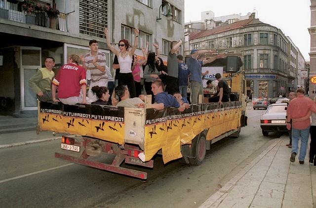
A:
<svg viewBox="0 0 316 208">
<path fill-rule="evenodd" d="M 286 112 L 288 118 L 299 119 L 306 116 L 306 114 L 310 110 L 314 113 L 316 112 L 316 103 L 312 99 L 305 97 L 304 95 L 299 95 L 291 100 L 291 102 L 288 104 Z M 292 126 L 294 128 L 300 130 L 307 128 L 309 125 L 311 125 L 310 118 L 306 119 L 305 121 L 292 123 Z"/>
</svg>

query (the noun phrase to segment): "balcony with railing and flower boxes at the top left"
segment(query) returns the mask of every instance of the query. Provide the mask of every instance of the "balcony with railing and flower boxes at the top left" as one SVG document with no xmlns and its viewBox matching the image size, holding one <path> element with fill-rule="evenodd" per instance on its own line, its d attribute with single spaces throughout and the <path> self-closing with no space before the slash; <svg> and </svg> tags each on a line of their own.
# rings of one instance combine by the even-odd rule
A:
<svg viewBox="0 0 316 208">
<path fill-rule="evenodd" d="M 59 12 L 59 14 L 51 16 L 44 11 L 25 12 L 22 11 L 19 3 L 11 3 L 7 0 L 0 0 L 0 19 L 67 32 L 65 13 Z"/>
</svg>

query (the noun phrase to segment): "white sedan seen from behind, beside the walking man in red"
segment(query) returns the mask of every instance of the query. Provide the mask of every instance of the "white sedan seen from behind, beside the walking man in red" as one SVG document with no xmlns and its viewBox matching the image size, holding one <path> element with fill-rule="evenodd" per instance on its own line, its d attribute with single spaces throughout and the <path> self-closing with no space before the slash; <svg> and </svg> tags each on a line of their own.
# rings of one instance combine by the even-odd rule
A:
<svg viewBox="0 0 316 208">
<path fill-rule="evenodd" d="M 268 136 L 269 132 L 273 131 L 287 131 L 286 108 L 286 103 L 271 104 L 261 116 L 260 127 L 264 136 Z"/>
</svg>

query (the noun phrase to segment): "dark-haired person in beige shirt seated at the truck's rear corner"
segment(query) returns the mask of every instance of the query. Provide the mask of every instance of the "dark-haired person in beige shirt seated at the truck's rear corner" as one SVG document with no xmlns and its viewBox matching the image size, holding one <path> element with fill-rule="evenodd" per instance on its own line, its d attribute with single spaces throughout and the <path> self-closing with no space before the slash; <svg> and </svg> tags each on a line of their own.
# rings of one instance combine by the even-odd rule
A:
<svg viewBox="0 0 316 208">
<path fill-rule="evenodd" d="M 115 88 L 115 94 L 118 95 L 120 101 L 116 106 L 127 108 L 144 108 L 145 103 L 138 97 L 130 98 L 129 90 L 126 85 L 118 85 Z M 113 101 L 112 101 L 113 102 Z M 114 104 L 113 104 L 114 105 Z"/>
</svg>

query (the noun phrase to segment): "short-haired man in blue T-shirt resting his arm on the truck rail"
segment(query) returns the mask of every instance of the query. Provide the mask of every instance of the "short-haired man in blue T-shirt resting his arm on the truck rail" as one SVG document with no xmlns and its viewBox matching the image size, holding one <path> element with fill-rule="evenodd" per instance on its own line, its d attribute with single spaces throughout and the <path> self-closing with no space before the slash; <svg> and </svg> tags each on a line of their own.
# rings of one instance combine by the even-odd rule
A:
<svg viewBox="0 0 316 208">
<path fill-rule="evenodd" d="M 190 104 L 184 103 L 180 104 L 175 97 L 168 92 L 163 91 L 163 83 L 161 81 L 154 81 L 152 83 L 152 91 L 155 95 L 155 103 L 152 104 L 152 108 L 162 110 L 164 107 L 174 107 L 178 108 L 180 112 L 188 109 Z"/>
</svg>

